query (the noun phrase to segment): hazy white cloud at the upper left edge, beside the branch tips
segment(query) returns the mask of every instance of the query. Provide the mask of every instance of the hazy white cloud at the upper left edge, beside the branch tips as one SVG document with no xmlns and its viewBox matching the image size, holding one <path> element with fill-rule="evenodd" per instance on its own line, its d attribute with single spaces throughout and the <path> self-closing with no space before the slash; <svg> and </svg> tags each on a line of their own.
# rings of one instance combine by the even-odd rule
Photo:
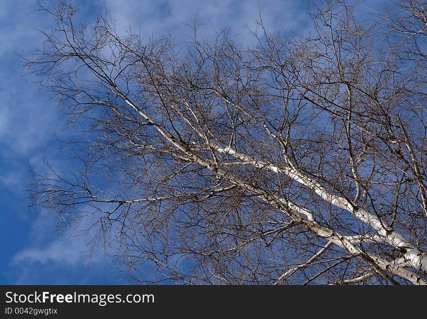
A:
<svg viewBox="0 0 427 319">
<path fill-rule="evenodd" d="M 34 29 L 48 29 L 51 21 L 34 13 L 35 1 L 1 1 L 0 7 L 0 136 L 4 156 L 28 155 L 43 147 L 58 129 L 55 103 L 47 98 L 34 76 L 22 76 L 17 54 L 40 46 L 43 35 Z M 33 13 L 32 13 L 33 12 Z M 7 151 L 5 151 L 5 147 Z"/>
</svg>

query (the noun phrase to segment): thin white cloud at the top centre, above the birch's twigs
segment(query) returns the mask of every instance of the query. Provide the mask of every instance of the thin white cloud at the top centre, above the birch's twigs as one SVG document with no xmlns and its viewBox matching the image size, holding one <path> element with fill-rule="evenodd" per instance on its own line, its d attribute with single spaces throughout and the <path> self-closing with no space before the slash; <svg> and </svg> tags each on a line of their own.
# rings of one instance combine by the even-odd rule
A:
<svg viewBox="0 0 427 319">
<path fill-rule="evenodd" d="M 261 0 L 263 21 L 269 31 L 287 30 L 300 25 L 305 18 L 303 1 Z M 247 40 L 247 27 L 254 28 L 259 20 L 258 1 L 197 0 L 158 1 L 158 0 L 107 0 L 107 8 L 117 22 L 119 32 L 129 27 L 141 31 L 145 37 L 158 37 L 161 34 L 184 39 L 191 30 L 184 23 L 190 23 L 197 15 L 199 23 L 210 24 L 216 28 L 230 26 L 232 34 L 240 34 L 241 41 Z M 161 14 L 163 13 L 163 15 Z M 164 15 L 167 13 L 167 15 Z M 208 29 L 210 26 L 208 26 Z"/>
</svg>

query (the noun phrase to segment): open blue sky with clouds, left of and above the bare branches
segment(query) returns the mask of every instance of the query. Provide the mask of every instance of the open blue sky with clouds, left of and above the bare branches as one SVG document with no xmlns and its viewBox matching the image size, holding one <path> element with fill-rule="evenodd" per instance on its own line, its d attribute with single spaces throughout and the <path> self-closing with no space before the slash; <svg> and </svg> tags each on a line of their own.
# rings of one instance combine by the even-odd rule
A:
<svg viewBox="0 0 427 319">
<path fill-rule="evenodd" d="M 47 6 L 49 2 L 41 1 Z M 103 2 L 82 1 L 80 17 L 96 20 L 103 13 Z M 184 23 L 197 13 L 202 23 L 230 26 L 242 42 L 250 39 L 246 25 L 252 27 L 258 19 L 258 2 L 268 30 L 306 28 L 303 0 L 105 0 L 119 33 L 132 27 L 145 37 L 171 34 L 184 41 L 190 32 Z M 378 7 L 384 2 L 367 3 Z M 15 53 L 25 55 L 38 48 L 43 36 L 35 28 L 47 30 L 52 23 L 36 9 L 35 0 L 0 1 L 0 284 L 126 284 L 102 252 L 89 260 L 84 238 L 57 233 L 49 212 L 36 218 L 29 208 L 25 192 L 31 182 L 29 164 L 42 172 L 45 156 L 56 168 L 67 169 L 68 154 L 57 150 L 55 134 L 60 138 L 73 134 L 63 126 L 49 93 L 33 83 L 36 78 L 22 76 Z"/>
</svg>

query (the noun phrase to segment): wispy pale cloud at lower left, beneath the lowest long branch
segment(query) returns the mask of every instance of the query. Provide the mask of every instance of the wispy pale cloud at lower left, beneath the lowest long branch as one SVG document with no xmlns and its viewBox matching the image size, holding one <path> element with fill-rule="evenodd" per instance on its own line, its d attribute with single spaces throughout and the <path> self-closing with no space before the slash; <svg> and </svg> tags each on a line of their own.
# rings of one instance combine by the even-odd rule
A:
<svg viewBox="0 0 427 319">
<path fill-rule="evenodd" d="M 49 216 L 38 218 L 31 228 L 29 244 L 16 252 L 10 261 L 15 284 L 93 284 L 102 279 L 118 283 L 120 274 L 106 262 L 104 252 L 88 250 L 88 237 L 79 229 L 54 234 L 54 222 Z"/>
</svg>

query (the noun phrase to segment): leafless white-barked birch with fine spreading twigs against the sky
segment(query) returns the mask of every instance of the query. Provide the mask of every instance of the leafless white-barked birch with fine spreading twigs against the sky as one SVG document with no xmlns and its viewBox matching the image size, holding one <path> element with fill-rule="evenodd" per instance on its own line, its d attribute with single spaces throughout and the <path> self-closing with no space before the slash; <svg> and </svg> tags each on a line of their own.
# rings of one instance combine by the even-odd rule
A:
<svg viewBox="0 0 427 319">
<path fill-rule="evenodd" d="M 300 35 L 260 16 L 250 46 L 42 9 L 55 26 L 26 65 L 84 134 L 71 174 L 34 174 L 33 204 L 130 278 L 427 283 L 423 1 L 373 21 L 328 1 Z"/>
</svg>

